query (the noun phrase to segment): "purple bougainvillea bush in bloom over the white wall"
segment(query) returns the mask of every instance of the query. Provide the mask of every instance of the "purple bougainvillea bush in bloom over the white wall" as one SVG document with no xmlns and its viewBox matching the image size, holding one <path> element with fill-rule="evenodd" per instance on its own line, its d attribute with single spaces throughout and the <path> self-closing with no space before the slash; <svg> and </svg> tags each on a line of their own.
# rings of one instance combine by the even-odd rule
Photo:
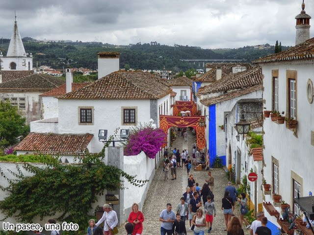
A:
<svg viewBox="0 0 314 235">
<path fill-rule="evenodd" d="M 126 156 L 137 155 L 143 151 L 149 158 L 155 158 L 164 142 L 166 134 L 163 130 L 146 125 L 140 125 L 131 130 L 129 140 L 124 146 Z"/>
</svg>

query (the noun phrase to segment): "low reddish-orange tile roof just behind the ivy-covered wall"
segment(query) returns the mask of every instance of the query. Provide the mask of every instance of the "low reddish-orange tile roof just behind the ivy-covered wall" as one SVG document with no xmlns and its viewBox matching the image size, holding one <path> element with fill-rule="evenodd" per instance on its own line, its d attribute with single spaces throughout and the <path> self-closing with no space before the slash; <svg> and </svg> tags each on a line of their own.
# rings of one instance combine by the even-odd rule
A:
<svg viewBox="0 0 314 235">
<path fill-rule="evenodd" d="M 14 149 L 42 154 L 81 155 L 92 140 L 92 134 L 52 134 L 30 132 Z"/>
</svg>

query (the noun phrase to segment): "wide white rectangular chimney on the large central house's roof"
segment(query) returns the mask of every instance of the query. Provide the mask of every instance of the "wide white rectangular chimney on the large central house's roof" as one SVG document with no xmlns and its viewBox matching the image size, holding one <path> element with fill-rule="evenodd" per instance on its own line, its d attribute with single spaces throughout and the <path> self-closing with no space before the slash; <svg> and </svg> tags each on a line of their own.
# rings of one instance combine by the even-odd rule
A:
<svg viewBox="0 0 314 235">
<path fill-rule="evenodd" d="M 98 79 L 111 72 L 119 71 L 119 52 L 99 52 L 98 55 Z"/>
</svg>

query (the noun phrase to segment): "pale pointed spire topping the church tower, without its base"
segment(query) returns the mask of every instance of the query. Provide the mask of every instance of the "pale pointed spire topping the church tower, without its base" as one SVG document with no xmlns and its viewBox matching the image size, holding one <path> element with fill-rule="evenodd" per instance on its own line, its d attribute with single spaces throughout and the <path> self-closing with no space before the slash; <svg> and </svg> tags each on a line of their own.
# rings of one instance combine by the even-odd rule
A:
<svg viewBox="0 0 314 235">
<path fill-rule="evenodd" d="M 22 42 L 21 35 L 18 30 L 18 24 L 14 22 L 14 28 L 11 36 L 10 45 L 6 56 L 26 57 L 25 48 Z"/>
</svg>

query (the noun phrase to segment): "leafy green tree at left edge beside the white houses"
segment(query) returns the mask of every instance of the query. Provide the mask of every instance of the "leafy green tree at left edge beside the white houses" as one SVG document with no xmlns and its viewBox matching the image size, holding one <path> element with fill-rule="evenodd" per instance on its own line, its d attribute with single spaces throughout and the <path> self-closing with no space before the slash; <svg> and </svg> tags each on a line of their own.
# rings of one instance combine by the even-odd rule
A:
<svg viewBox="0 0 314 235">
<path fill-rule="evenodd" d="M 0 146 L 7 147 L 18 142 L 18 137 L 26 136 L 29 126 L 17 106 L 10 102 L 0 102 Z"/>
</svg>

